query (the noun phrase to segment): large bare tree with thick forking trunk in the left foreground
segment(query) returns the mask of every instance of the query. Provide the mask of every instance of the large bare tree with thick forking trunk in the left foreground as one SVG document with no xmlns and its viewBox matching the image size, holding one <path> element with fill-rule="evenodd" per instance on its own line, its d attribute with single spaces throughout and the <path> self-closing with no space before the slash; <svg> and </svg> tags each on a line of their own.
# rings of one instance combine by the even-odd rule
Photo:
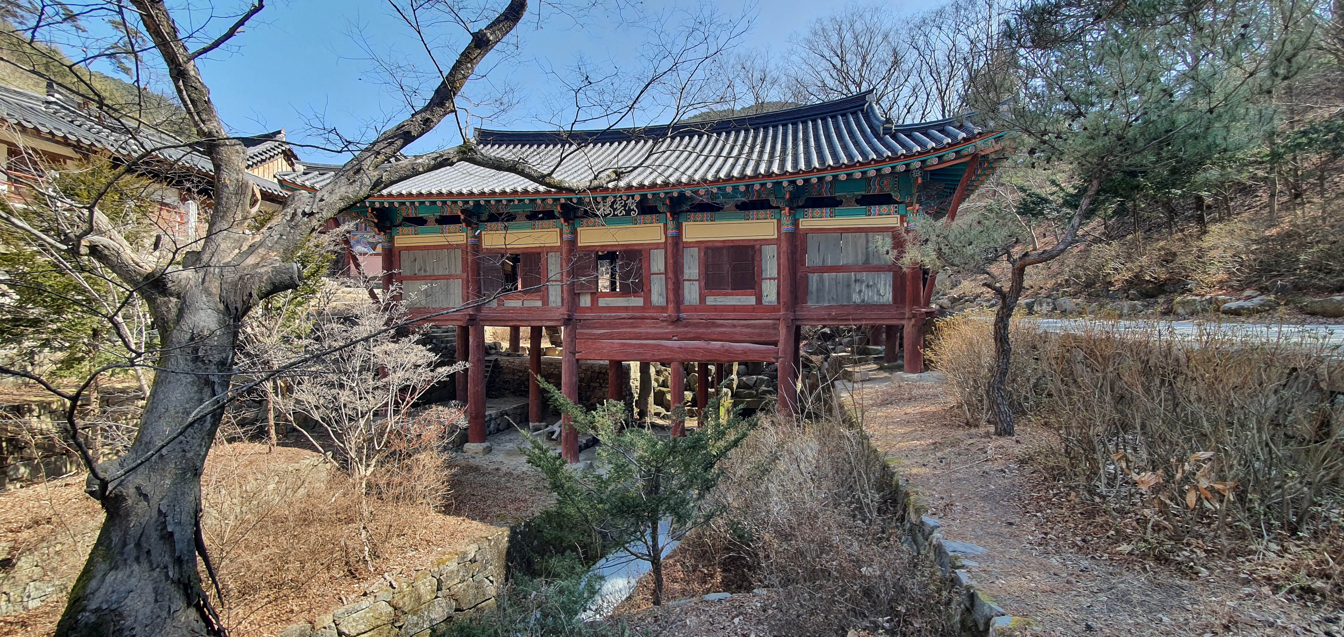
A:
<svg viewBox="0 0 1344 637">
<path fill-rule="evenodd" d="M 259 196 L 246 173 L 243 141 L 230 133 L 211 99 L 210 87 L 196 60 L 231 40 L 263 11 L 257 0 L 245 11 L 227 17 L 227 27 L 206 34 L 208 19 L 179 22 L 161 0 L 94 1 L 79 11 L 46 4 L 26 12 L 23 28 L 36 40 L 43 34 L 71 34 L 74 23 L 102 16 L 114 36 L 102 48 L 106 56 L 120 55 L 137 79 L 141 69 L 159 70 L 177 97 L 195 148 L 208 157 L 212 208 L 199 239 L 155 251 L 128 237 L 103 208 L 103 198 L 60 202 L 48 224 L 34 224 L 22 215 L 0 211 L 0 220 L 22 231 L 30 241 L 52 253 L 89 258 L 112 273 L 121 285 L 134 290 L 149 308 L 157 328 L 159 348 L 134 364 L 155 370 L 138 434 L 129 452 L 116 460 L 95 462 L 83 448 L 74 419 L 73 438 L 89 464 L 89 493 L 106 513 L 102 532 L 71 589 L 69 606 L 56 629 L 60 636 L 180 636 L 222 634 L 223 626 L 202 589 L 198 555 L 206 556 L 200 532 L 200 473 L 215 438 L 226 405 L 253 383 L 235 386 L 235 347 L 243 320 L 267 297 L 301 284 L 292 261 L 306 237 L 341 211 L 406 179 L 456 164 L 473 164 L 520 175 L 536 184 L 566 192 L 603 188 L 620 180 L 630 168 L 594 167 L 587 176 L 562 179 L 559 163 L 538 167 L 526 159 L 492 156 L 468 136 L 437 151 L 406 155 L 407 146 L 423 138 L 445 120 L 464 121 L 464 90 L 482 73 L 487 55 L 496 48 L 527 15 L 526 0 L 504 3 L 419 1 L 419 11 L 450 16 L 439 24 L 460 27 L 450 42 L 421 40 L 441 63 L 434 66 L 431 90 L 419 93 L 417 106 L 403 120 L 383 129 L 367 144 L 347 146 L 352 159 L 327 185 L 316 192 L 294 192 L 273 214 L 259 212 Z M 402 4 L 405 7 L 405 4 Z M 546 3 L 548 9 L 554 3 Z M 184 9 L 185 11 L 185 9 Z M 199 17 L 199 16 L 198 16 Z M 216 17 L 211 15 L 211 17 Z M 183 28 L 183 24 L 195 27 Z M 710 28 L 711 26 L 703 26 Z M 102 31 L 99 31 L 102 32 Z M 465 43 L 462 42 L 465 39 Z M 446 47 L 453 47 L 441 55 Z M 626 93 L 645 99 L 660 90 L 694 86 L 696 69 L 708 63 L 698 51 L 687 50 L 668 60 L 652 79 Z M 91 55 L 93 56 L 93 55 Z M 155 63 L 149 65 L 148 60 Z M 146 71 L 148 74 L 148 71 Z M 85 77 L 74 74 L 73 82 Z M 97 94 L 91 82 L 79 86 Z M 660 95 L 665 97 L 665 95 Z M 466 102 L 469 105 L 469 102 Z M 640 114 L 634 105 L 609 109 L 612 125 L 621 117 Z M 593 120 L 578 118 L 589 122 Z M 134 125 L 128 126 L 132 132 Z M 129 133 L 128 133 L 129 134 Z M 181 141 L 159 142 L 129 136 L 129 160 L 124 173 L 163 163 L 165 155 L 185 155 Z M 632 161 L 638 161 L 638 157 Z M 348 344 L 316 352 L 282 366 L 284 374 Z M 30 378 L 66 399 L 74 413 L 86 387 L 65 391 L 20 370 L 5 374 Z M 270 375 L 261 375 L 262 379 Z M 210 570 L 208 558 L 206 558 Z"/>
</svg>

